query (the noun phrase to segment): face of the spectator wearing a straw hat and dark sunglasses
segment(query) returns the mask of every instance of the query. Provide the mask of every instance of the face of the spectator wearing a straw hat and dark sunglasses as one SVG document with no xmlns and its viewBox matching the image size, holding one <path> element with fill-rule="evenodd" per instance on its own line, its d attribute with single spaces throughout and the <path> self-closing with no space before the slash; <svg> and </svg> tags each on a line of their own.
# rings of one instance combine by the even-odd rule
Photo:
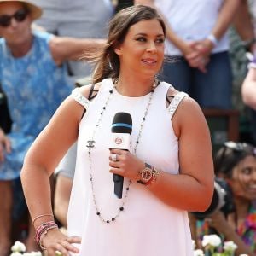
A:
<svg viewBox="0 0 256 256">
<path fill-rule="evenodd" d="M 24 10 L 24 7 L 21 3 L 0 3 L 0 17 L 2 18 L 3 15 L 17 15 L 17 12 L 19 16 L 22 10 Z M 30 15 L 26 15 L 24 20 L 16 20 L 12 17 L 9 26 L 2 26 L 0 24 L 0 36 L 5 38 L 9 45 L 25 43 L 31 38 L 31 22 Z"/>
</svg>

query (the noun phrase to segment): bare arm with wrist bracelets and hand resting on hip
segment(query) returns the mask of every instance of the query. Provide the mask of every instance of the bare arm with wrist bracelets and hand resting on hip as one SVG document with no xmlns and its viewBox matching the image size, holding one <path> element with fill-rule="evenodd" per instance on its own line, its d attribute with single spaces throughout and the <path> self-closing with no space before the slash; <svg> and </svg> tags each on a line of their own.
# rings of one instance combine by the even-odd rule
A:
<svg viewBox="0 0 256 256">
<path fill-rule="evenodd" d="M 86 90 L 89 89 L 90 86 L 86 86 Z M 53 216 L 44 216 L 53 212 L 49 177 L 67 149 L 77 140 L 83 112 L 83 106 L 75 102 L 72 96 L 67 97 L 26 154 L 20 175 L 26 203 L 32 219 L 43 215 L 35 219 L 35 228 L 53 220 Z M 43 238 L 49 255 L 55 255 L 56 249 L 62 253 L 67 253 L 67 249 L 77 252 L 71 243 L 79 242 L 78 238 L 68 238 L 68 242 L 65 239 L 67 236 L 59 230 L 49 230 Z"/>
</svg>

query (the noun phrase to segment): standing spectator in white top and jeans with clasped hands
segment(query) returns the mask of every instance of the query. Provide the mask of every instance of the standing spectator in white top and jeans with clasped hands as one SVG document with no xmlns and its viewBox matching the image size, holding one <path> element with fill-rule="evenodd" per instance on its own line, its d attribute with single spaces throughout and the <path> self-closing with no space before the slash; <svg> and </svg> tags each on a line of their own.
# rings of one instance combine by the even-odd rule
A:
<svg viewBox="0 0 256 256">
<path fill-rule="evenodd" d="M 202 108 L 231 108 L 232 74 L 226 31 L 240 0 L 135 0 L 166 19 L 164 79 Z"/>
</svg>

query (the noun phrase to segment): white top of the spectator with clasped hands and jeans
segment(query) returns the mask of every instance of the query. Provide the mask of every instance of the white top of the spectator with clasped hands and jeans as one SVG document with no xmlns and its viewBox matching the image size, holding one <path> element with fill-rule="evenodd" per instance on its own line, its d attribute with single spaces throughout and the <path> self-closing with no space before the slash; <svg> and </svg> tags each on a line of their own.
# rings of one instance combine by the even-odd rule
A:
<svg viewBox="0 0 256 256">
<path fill-rule="evenodd" d="M 197 41 L 207 38 L 212 33 L 224 0 L 154 0 L 154 3 L 178 37 L 185 41 Z M 212 53 L 225 51 L 228 48 L 228 35 L 225 34 Z M 166 55 L 182 55 L 182 53 L 166 40 Z"/>
</svg>

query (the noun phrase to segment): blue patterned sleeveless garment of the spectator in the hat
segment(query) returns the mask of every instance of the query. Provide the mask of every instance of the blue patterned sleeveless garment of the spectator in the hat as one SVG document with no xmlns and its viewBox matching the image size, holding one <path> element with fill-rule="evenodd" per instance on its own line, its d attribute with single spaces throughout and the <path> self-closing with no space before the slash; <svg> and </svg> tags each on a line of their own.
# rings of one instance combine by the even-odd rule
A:
<svg viewBox="0 0 256 256">
<path fill-rule="evenodd" d="M 0 84 L 13 121 L 8 135 L 12 152 L 0 164 L 0 179 L 20 177 L 27 149 L 72 90 L 66 67 L 57 67 L 50 53 L 52 37 L 47 32 L 33 32 L 32 49 L 20 58 L 0 38 Z"/>
</svg>

